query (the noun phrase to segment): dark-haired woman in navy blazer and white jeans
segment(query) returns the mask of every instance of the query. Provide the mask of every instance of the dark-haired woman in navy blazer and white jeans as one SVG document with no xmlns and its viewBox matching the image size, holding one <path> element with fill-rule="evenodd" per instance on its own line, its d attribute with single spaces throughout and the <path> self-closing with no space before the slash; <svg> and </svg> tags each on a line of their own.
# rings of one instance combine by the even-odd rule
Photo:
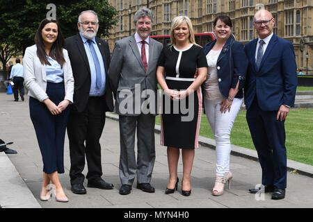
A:
<svg viewBox="0 0 313 222">
<path fill-rule="evenodd" d="M 214 20 L 216 40 L 204 46 L 209 65 L 207 80 L 203 83 L 204 107 L 216 139 L 216 181 L 214 196 L 223 194 L 230 180 L 230 132 L 243 102 L 243 85 L 248 59 L 243 44 L 231 35 L 230 17 L 220 15 Z"/>
</svg>

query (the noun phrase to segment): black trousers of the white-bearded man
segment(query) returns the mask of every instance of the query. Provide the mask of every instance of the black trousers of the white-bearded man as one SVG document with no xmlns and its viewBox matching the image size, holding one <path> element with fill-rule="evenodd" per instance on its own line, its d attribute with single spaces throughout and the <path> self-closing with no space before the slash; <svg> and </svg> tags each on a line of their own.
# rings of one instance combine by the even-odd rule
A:
<svg viewBox="0 0 313 222">
<path fill-rule="evenodd" d="M 70 141 L 71 184 L 83 183 L 85 155 L 88 165 L 86 178 L 93 180 L 102 176 L 101 146 L 99 139 L 106 121 L 104 96 L 89 97 L 88 105 L 79 113 L 70 111 L 67 135 Z M 86 145 L 85 145 L 86 144 Z"/>
</svg>

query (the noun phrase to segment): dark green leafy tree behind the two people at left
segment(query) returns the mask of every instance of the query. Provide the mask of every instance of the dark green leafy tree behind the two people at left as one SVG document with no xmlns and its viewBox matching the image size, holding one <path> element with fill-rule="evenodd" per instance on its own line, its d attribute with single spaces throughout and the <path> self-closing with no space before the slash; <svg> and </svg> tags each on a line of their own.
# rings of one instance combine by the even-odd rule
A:
<svg viewBox="0 0 313 222">
<path fill-rule="evenodd" d="M 35 32 L 50 10 L 49 3 L 56 6 L 56 19 L 65 38 L 78 33 L 77 19 L 83 10 L 97 12 L 99 37 L 109 36 L 109 30 L 117 23 L 117 12 L 107 0 L 0 0 L 0 46 L 8 44 L 13 51 L 24 54 L 26 47 L 34 44 Z M 0 47 L 0 60 L 1 50 Z"/>
</svg>

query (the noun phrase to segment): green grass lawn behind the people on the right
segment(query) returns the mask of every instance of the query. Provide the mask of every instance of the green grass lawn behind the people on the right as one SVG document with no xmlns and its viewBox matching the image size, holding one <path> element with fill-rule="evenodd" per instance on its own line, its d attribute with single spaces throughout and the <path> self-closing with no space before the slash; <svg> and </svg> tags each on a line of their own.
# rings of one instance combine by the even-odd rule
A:
<svg viewBox="0 0 313 222">
<path fill-rule="evenodd" d="M 160 116 L 157 117 L 156 123 L 161 124 Z M 287 158 L 313 165 L 313 110 L 291 109 L 285 121 L 285 128 Z M 205 114 L 202 114 L 200 135 L 214 139 Z M 241 110 L 236 118 L 231 143 L 255 150 L 246 121 L 246 110 Z"/>
</svg>

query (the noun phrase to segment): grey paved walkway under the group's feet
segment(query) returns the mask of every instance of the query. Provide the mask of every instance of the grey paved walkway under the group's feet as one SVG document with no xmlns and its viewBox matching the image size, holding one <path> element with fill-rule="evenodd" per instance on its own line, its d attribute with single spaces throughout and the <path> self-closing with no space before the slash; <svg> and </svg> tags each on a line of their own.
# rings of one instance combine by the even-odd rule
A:
<svg viewBox="0 0 313 222">
<path fill-rule="evenodd" d="M 66 137 L 64 153 L 65 173 L 60 175 L 60 179 L 70 202 L 58 203 L 55 200 L 42 202 L 39 200 L 40 187 L 42 185 L 42 159 L 35 131 L 29 117 L 29 96 L 25 96 L 24 102 L 14 102 L 13 95 L 0 93 L 0 101 L 0 138 L 5 142 L 13 141 L 14 144 L 9 147 L 18 152 L 15 155 L 0 153 L 1 207 L 313 207 L 313 178 L 310 177 L 313 174 L 312 166 L 300 164 L 300 167 L 307 167 L 303 171 L 312 172 L 307 174 L 309 176 L 288 173 L 286 198 L 283 200 L 271 200 L 271 194 L 255 196 L 248 193 L 248 189 L 257 185 L 261 180 L 259 162 L 237 155 L 232 155 L 230 160 L 230 168 L 234 175 L 232 189 L 225 189 L 223 196 L 212 196 L 211 189 L 214 186 L 215 179 L 215 151 L 204 146 L 200 146 L 195 151 L 191 178 L 191 196 L 185 197 L 180 194 L 179 190 L 182 189 L 180 184 L 175 194 L 166 195 L 164 191 L 168 183 L 168 163 L 166 148 L 159 145 L 159 134 L 156 134 L 157 158 L 152 176 L 152 185 L 155 187 L 156 192 L 147 194 L 138 190 L 135 182 L 131 194 L 121 196 L 118 194 L 118 189 L 120 189 L 118 176 L 120 156 L 119 128 L 118 121 L 112 119 L 106 119 L 104 133 L 100 142 L 102 144 L 103 178 L 108 182 L 112 182 L 115 185 L 115 189 L 88 188 L 87 181 L 85 181 L 86 195 L 77 195 L 70 191 L 70 157 Z M 243 148 L 234 146 L 234 149 L 241 153 L 240 149 Z M 243 150 L 246 151 L 246 149 Z M 247 153 L 245 156 L 255 155 L 255 151 L 247 151 Z M 297 163 L 289 162 L 290 164 L 292 168 Z M 85 175 L 86 169 L 83 172 Z M 181 179 L 181 158 L 179 159 L 178 171 L 179 179 Z M 13 189 L 14 192 L 8 193 L 9 189 Z M 19 194 L 19 192 L 22 194 Z"/>
</svg>

